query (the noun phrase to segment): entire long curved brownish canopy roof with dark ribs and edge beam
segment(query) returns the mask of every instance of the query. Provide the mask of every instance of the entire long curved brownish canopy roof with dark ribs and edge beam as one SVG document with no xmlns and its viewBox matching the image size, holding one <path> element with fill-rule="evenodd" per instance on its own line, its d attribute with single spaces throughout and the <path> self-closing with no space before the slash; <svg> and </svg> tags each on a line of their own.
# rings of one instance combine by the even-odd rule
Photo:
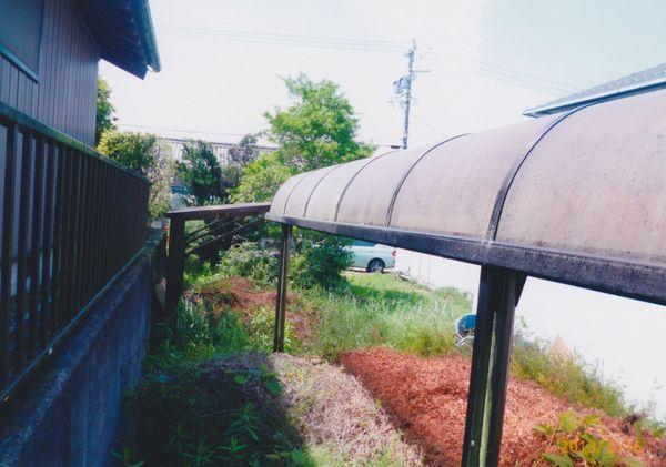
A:
<svg viewBox="0 0 666 467">
<path fill-rule="evenodd" d="M 266 217 L 666 304 L 666 91 L 300 174 Z"/>
</svg>

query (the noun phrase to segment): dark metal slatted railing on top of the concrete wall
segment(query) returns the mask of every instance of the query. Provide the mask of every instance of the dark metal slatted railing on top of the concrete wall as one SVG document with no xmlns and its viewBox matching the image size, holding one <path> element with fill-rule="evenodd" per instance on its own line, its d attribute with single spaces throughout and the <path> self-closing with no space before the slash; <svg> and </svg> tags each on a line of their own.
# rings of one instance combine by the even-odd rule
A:
<svg viewBox="0 0 666 467">
<path fill-rule="evenodd" d="M 0 400 L 147 237 L 149 183 L 0 103 Z"/>
</svg>

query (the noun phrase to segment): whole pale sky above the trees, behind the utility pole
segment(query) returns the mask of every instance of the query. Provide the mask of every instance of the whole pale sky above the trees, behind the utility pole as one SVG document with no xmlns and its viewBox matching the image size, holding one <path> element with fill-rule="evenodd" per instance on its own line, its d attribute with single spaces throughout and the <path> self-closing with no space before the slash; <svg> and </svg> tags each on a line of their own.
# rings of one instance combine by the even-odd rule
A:
<svg viewBox="0 0 666 467">
<path fill-rule="evenodd" d="M 304 72 L 340 83 L 363 139 L 393 144 L 402 112 L 390 103 L 392 82 L 406 61 L 400 52 L 230 41 L 192 28 L 394 41 L 405 49 L 415 38 L 416 65 L 431 70 L 415 88 L 415 144 L 517 121 L 528 106 L 664 61 L 666 43 L 660 1 L 153 0 L 151 8 L 163 71 L 139 81 L 102 64 L 120 123 L 224 141 L 264 128 L 263 112 L 287 103 L 280 77 Z M 174 33 L 174 27 L 190 29 Z"/>
</svg>

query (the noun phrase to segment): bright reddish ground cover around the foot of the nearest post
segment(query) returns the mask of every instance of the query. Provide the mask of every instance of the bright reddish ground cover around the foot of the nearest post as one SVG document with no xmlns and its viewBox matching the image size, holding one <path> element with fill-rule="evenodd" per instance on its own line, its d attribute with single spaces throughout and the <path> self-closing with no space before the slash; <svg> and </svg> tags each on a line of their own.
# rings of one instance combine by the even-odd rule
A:
<svg viewBox="0 0 666 467">
<path fill-rule="evenodd" d="M 467 358 L 458 355 L 421 358 L 375 348 L 345 353 L 342 364 L 381 400 L 392 422 L 405 432 L 406 439 L 423 449 L 428 464 L 460 465 L 470 377 Z M 575 407 L 536 384 L 512 379 L 507 390 L 502 465 L 536 463 L 547 441 L 534 433 L 534 427 L 539 423 L 556 424 L 558 414 L 567 409 Z M 640 453 L 630 448 L 636 438 L 622 432 L 620 420 L 604 417 L 603 424 L 609 428 L 614 446 L 624 450 L 623 455 L 639 455 L 647 465 L 666 465 L 663 439 L 649 447 L 650 453 Z"/>
</svg>

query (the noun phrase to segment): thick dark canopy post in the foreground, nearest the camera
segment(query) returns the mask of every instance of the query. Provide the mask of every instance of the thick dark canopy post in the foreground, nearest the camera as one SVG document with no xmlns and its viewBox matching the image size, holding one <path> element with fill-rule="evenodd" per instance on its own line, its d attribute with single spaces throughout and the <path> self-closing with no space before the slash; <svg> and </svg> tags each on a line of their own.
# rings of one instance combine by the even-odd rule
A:
<svg viewBox="0 0 666 467">
<path fill-rule="evenodd" d="M 483 266 L 478 287 L 463 466 L 497 466 L 514 312 L 525 276 Z"/>
</svg>

